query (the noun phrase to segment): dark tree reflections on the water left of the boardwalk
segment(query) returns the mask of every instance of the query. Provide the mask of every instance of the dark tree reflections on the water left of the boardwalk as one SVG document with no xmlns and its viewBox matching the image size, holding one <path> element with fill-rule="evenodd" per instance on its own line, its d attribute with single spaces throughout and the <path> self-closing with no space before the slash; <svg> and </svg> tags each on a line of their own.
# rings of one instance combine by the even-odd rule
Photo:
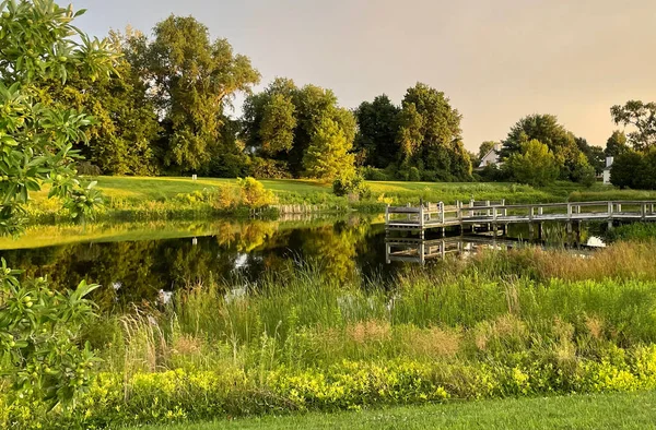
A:
<svg viewBox="0 0 656 430">
<path fill-rule="evenodd" d="M 106 306 L 115 298 L 121 303 L 165 298 L 168 291 L 211 278 L 253 282 L 266 273 L 289 270 L 295 261 L 316 261 L 327 275 L 343 282 L 395 270 L 385 265 L 380 252 L 384 226 L 375 219 L 222 222 L 188 230 L 175 226 L 181 229 L 183 237 L 178 238 L 168 238 L 156 228 L 148 238 L 140 226 L 110 227 L 112 234 L 91 230 L 73 243 L 3 250 L 0 256 L 28 276 L 48 275 L 58 288 L 74 286 L 81 279 L 106 286 L 106 297 L 96 297 Z M 52 241 L 71 240 L 51 227 L 45 231 Z M 107 237 L 118 240 L 105 241 Z M 45 241 L 38 230 L 21 240 L 10 244 Z"/>
</svg>

